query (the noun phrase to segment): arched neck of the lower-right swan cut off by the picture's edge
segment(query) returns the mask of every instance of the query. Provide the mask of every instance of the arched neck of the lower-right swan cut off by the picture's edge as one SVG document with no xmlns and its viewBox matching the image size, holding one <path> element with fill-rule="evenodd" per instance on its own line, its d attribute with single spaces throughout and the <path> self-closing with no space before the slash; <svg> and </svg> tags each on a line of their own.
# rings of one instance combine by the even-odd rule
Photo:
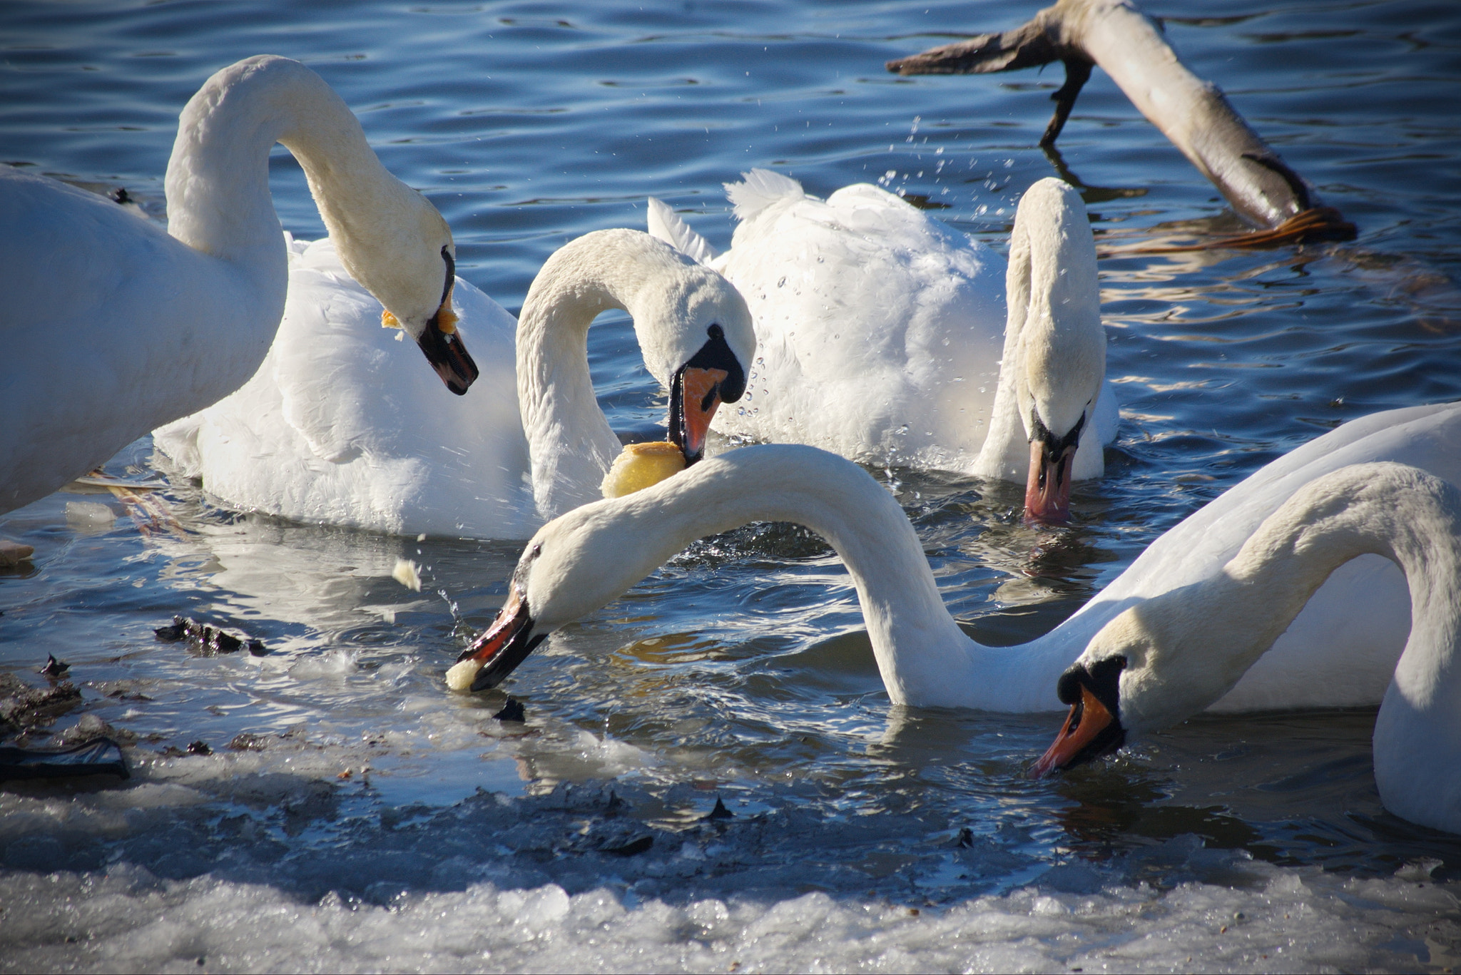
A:
<svg viewBox="0 0 1461 975">
<path fill-rule="evenodd" d="M 1451 662 L 1461 634 L 1461 496 L 1416 468 L 1366 463 L 1296 493 L 1213 577 L 1148 599 L 1109 624 L 1121 630 L 1118 639 L 1135 637 L 1150 655 L 1121 678 L 1122 722 L 1164 726 L 1216 702 L 1330 573 L 1363 554 L 1394 561 L 1410 586 L 1410 640 L 1391 690 L 1430 702 L 1449 683 L 1461 696 Z M 1097 634 L 1093 649 L 1106 637 Z M 1144 686 L 1157 671 L 1161 687 Z M 1442 680 L 1443 672 L 1451 675 Z"/>
</svg>

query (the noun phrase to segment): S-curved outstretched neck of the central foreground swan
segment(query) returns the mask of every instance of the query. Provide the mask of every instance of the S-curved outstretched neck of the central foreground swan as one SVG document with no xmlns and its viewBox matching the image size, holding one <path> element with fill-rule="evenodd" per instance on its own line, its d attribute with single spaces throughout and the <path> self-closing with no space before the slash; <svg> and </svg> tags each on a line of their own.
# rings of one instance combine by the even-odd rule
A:
<svg viewBox="0 0 1461 975">
<path fill-rule="evenodd" d="M 605 504 L 625 520 L 614 534 L 614 572 L 630 582 L 691 541 L 749 522 L 793 522 L 825 538 L 856 586 L 894 703 L 1004 710 L 1011 690 L 1040 687 L 1053 707 L 1055 681 L 1075 655 L 1058 643 L 1027 653 L 964 636 L 897 501 L 861 468 L 814 447 L 730 450 Z"/>
</svg>

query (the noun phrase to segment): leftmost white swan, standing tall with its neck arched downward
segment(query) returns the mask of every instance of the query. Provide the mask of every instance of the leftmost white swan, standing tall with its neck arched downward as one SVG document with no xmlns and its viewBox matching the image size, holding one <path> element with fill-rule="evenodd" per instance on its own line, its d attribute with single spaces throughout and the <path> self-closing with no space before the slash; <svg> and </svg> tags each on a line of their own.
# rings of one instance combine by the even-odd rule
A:
<svg viewBox="0 0 1461 975">
<path fill-rule="evenodd" d="M 390 175 L 318 75 L 251 57 L 178 118 L 168 229 L 92 193 L 0 167 L 0 512 L 86 474 L 153 427 L 238 389 L 263 360 L 288 282 L 269 197 L 282 142 L 345 265 L 453 392 L 476 376 L 438 311 L 451 231 Z"/>
</svg>

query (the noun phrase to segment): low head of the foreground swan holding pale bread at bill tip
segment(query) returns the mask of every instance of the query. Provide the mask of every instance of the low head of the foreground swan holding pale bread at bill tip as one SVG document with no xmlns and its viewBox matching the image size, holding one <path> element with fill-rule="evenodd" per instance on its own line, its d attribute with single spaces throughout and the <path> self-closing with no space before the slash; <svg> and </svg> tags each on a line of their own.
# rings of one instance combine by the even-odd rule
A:
<svg viewBox="0 0 1461 975">
<path fill-rule="evenodd" d="M 675 478 L 671 478 L 674 481 Z M 492 624 L 447 671 L 453 690 L 497 687 L 558 627 L 619 598 L 665 558 L 652 504 L 669 482 L 625 497 L 593 501 L 538 531 L 508 582 Z"/>
</svg>

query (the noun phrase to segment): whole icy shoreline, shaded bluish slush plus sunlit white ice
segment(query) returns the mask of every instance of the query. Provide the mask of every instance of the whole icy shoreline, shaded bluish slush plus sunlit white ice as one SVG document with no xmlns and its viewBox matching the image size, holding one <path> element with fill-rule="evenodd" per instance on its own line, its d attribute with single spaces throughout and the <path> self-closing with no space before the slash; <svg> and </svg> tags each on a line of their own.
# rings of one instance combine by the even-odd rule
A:
<svg viewBox="0 0 1461 975">
<path fill-rule="evenodd" d="M 9 786 L 0 971 L 1461 962 L 1461 884 L 1430 879 L 1439 861 L 1356 877 L 1208 849 L 1191 833 L 1106 858 L 1042 858 L 1008 830 L 948 836 L 916 814 L 827 817 L 793 801 L 748 811 L 732 800 L 739 813 L 712 819 L 709 791 L 655 795 L 631 781 L 392 807 L 337 778 L 345 757 L 359 759 L 275 741 L 143 760 L 123 788 Z M 44 873 L 60 864 L 70 868 Z"/>
</svg>

